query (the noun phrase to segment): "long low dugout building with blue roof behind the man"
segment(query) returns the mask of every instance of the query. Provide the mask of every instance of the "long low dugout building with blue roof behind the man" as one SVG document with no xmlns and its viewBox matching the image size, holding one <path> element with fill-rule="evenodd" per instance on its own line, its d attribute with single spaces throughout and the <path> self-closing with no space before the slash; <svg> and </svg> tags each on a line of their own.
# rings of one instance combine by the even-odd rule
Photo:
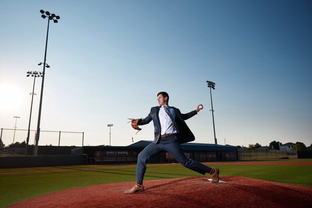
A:
<svg viewBox="0 0 312 208">
<path fill-rule="evenodd" d="M 137 163 L 139 153 L 153 141 L 141 140 L 129 146 L 84 146 L 71 150 L 71 155 L 85 155 L 87 163 Z M 184 143 L 184 154 L 196 161 L 238 160 L 236 146 L 219 144 Z M 173 156 L 163 151 L 152 158 L 150 163 L 176 163 Z"/>
</svg>

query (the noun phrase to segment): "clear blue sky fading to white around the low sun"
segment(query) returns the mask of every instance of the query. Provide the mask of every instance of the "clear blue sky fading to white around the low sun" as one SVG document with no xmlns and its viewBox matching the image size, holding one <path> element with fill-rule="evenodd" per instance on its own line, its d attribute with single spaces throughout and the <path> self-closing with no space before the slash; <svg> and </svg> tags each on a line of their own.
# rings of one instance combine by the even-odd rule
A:
<svg viewBox="0 0 312 208">
<path fill-rule="evenodd" d="M 42 71 L 50 22 L 41 130 L 85 132 L 85 145 L 153 140 L 153 124 L 135 130 L 127 118 L 148 115 L 157 93 L 187 113 L 197 143 L 312 143 L 311 1 L 17 1 L 0 0 L 0 128 L 27 129 L 33 79 Z M 31 129 L 36 130 L 41 78 Z M 39 145 L 58 145 L 41 133 Z M 16 131 L 15 141 L 26 140 Z M 33 143 L 34 133 L 31 133 Z M 8 145 L 13 131 L 3 130 Z M 62 134 L 61 145 L 81 145 Z M 245 142 L 246 141 L 246 142 Z"/>
</svg>

